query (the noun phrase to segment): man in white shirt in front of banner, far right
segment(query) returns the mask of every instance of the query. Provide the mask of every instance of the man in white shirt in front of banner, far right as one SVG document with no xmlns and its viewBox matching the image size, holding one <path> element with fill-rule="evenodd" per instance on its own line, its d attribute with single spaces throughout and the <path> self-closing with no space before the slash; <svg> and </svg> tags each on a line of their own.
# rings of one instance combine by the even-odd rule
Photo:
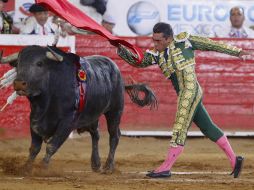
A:
<svg viewBox="0 0 254 190">
<path fill-rule="evenodd" d="M 230 28 L 222 28 L 215 31 L 215 37 L 220 38 L 254 38 L 254 31 L 244 26 L 244 9 L 233 7 L 230 9 Z"/>
</svg>

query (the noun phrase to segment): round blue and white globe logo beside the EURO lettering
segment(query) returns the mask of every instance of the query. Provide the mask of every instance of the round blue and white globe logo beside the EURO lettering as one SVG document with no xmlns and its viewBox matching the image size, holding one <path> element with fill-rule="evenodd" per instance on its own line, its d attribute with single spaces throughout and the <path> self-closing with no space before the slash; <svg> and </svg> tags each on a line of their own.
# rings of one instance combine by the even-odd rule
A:
<svg viewBox="0 0 254 190">
<path fill-rule="evenodd" d="M 153 32 L 153 26 L 160 21 L 160 14 L 152 3 L 139 1 L 128 10 L 127 21 L 132 32 L 149 35 Z"/>
</svg>

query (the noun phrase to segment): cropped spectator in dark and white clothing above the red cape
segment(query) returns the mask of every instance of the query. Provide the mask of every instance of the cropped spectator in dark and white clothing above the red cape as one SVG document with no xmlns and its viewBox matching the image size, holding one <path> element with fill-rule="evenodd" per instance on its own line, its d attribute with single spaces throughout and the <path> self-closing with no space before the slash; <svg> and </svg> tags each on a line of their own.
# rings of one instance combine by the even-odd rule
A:
<svg viewBox="0 0 254 190">
<path fill-rule="evenodd" d="M 101 23 L 106 11 L 105 0 L 71 0 L 71 2 L 97 23 Z"/>
</svg>

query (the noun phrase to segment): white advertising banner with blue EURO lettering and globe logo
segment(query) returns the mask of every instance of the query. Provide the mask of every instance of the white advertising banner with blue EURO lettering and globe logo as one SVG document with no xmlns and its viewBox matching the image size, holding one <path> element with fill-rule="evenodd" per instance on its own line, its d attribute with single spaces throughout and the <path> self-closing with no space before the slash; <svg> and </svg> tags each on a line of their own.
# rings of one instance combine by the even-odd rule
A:
<svg viewBox="0 0 254 190">
<path fill-rule="evenodd" d="M 230 26 L 229 10 L 234 6 L 244 8 L 246 26 L 254 25 L 253 0 L 109 0 L 107 9 L 116 19 L 116 35 L 150 35 L 160 21 L 170 23 L 176 34 L 209 36 Z"/>
</svg>

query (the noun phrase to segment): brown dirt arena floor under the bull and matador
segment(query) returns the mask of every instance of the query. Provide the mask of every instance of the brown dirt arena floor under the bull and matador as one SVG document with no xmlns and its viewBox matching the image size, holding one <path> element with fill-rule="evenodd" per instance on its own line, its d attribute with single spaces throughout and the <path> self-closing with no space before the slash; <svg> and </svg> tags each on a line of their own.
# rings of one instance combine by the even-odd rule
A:
<svg viewBox="0 0 254 190">
<path fill-rule="evenodd" d="M 2 190 L 252 190 L 254 189 L 254 139 L 231 138 L 237 154 L 245 157 L 240 178 L 234 179 L 224 153 L 205 138 L 188 139 L 184 153 L 174 165 L 171 178 L 149 179 L 147 170 L 163 160 L 168 139 L 121 137 L 116 152 L 113 174 L 94 173 L 90 168 L 91 140 L 88 134 L 68 139 L 53 156 L 48 170 L 40 169 L 45 153 L 42 148 L 31 174 L 18 168 L 28 155 L 30 138 L 0 141 L 0 189 Z M 104 163 L 108 153 L 108 135 L 100 139 L 100 155 Z"/>
</svg>

